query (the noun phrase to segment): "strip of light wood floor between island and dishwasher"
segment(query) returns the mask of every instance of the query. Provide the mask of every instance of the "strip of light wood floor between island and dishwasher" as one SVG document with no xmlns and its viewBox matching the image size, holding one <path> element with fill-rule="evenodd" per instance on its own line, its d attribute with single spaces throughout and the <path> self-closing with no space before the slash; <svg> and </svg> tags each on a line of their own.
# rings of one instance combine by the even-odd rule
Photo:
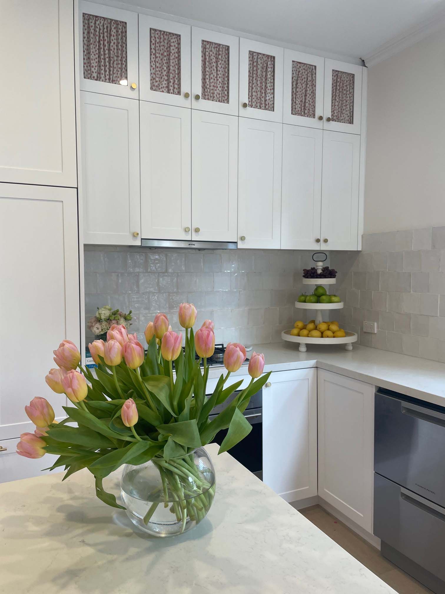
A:
<svg viewBox="0 0 445 594">
<path fill-rule="evenodd" d="M 320 505 L 312 505 L 299 511 L 399 594 L 432 594 L 430 589 L 425 588 L 417 580 L 408 576 L 405 571 L 383 558 L 378 549 L 358 536 L 340 520 L 331 516 Z"/>
</svg>

